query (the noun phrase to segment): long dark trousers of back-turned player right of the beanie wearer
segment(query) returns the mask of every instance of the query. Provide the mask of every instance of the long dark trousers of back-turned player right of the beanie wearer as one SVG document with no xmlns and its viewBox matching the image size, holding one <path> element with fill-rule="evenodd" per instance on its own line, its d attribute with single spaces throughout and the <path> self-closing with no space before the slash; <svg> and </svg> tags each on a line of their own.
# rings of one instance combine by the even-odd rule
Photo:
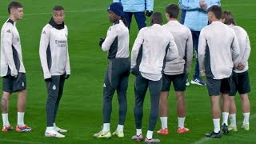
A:
<svg viewBox="0 0 256 144">
<path fill-rule="evenodd" d="M 150 120 L 148 130 L 154 131 L 154 126 L 158 121 L 158 107 L 160 91 L 162 88 L 162 78 L 159 81 L 150 81 L 142 77 L 142 74 L 137 74 L 134 84 L 135 92 L 135 106 L 134 106 L 134 118 L 136 129 L 142 128 L 143 117 L 143 102 L 146 95 L 146 90 L 149 87 L 150 90 Z"/>
</svg>

